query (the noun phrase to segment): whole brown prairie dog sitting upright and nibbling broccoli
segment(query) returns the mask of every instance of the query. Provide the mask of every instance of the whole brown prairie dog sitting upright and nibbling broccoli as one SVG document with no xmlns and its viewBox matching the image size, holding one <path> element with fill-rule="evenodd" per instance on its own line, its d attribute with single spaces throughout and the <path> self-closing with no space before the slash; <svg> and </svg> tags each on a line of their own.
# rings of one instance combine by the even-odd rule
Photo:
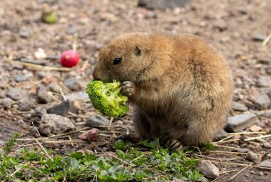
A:
<svg viewBox="0 0 271 182">
<path fill-rule="evenodd" d="M 212 45 L 189 34 L 126 33 L 99 52 L 93 77 L 123 82 L 142 139 L 212 141 L 225 125 L 233 83 Z"/>
</svg>

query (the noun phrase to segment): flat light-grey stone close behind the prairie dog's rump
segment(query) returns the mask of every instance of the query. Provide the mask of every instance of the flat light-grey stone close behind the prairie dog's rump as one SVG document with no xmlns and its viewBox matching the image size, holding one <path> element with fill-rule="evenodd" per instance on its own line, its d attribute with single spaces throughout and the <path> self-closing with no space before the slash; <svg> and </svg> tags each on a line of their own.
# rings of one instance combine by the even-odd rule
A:
<svg viewBox="0 0 271 182">
<path fill-rule="evenodd" d="M 256 114 L 240 114 L 227 118 L 227 125 L 225 131 L 227 132 L 241 132 L 243 129 L 252 126 L 257 122 Z"/>
</svg>

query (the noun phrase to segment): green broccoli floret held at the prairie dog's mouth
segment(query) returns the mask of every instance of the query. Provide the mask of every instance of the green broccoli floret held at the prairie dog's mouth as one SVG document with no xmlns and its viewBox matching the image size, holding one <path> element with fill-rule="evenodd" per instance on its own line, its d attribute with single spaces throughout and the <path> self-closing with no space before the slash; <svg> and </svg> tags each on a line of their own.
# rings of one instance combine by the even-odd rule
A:
<svg viewBox="0 0 271 182">
<path fill-rule="evenodd" d="M 86 93 L 99 112 L 108 117 L 123 117 L 128 112 L 128 101 L 126 95 L 121 94 L 121 82 L 102 82 L 100 80 L 91 80 L 88 83 Z"/>
</svg>

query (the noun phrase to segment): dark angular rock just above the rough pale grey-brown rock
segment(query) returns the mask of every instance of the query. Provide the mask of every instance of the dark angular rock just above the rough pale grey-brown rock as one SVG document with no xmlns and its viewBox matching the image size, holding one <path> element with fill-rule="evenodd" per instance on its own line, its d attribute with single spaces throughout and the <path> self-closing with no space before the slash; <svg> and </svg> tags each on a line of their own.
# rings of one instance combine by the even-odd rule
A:
<svg viewBox="0 0 271 182">
<path fill-rule="evenodd" d="M 77 108 L 70 100 L 63 101 L 59 105 L 55 105 L 47 109 L 48 114 L 57 114 L 63 117 L 68 115 L 68 112 L 77 113 Z"/>
</svg>

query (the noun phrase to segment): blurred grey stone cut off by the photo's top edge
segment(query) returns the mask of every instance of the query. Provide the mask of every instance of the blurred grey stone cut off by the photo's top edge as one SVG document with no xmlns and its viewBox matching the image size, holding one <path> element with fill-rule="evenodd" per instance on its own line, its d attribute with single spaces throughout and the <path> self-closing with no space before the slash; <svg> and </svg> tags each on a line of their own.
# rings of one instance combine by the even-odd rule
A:
<svg viewBox="0 0 271 182">
<path fill-rule="evenodd" d="M 167 9 L 183 7 L 189 0 L 138 0 L 138 6 L 146 9 Z"/>
</svg>

